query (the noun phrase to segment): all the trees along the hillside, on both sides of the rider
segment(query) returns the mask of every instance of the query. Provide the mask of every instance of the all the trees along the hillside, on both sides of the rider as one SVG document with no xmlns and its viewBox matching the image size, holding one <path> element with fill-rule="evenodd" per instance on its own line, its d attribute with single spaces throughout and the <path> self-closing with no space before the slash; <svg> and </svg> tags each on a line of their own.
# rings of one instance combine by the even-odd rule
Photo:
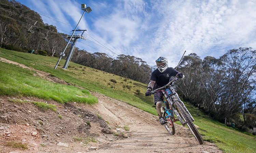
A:
<svg viewBox="0 0 256 153">
<path fill-rule="evenodd" d="M 30 30 L 30 31 L 28 31 Z M 68 43 L 66 34 L 43 23 L 41 16 L 15 0 L 0 0 L 1 48 L 58 57 Z M 67 50 L 70 50 L 69 44 Z M 66 57 L 64 57 L 65 59 Z M 218 59 L 200 58 L 195 53 L 184 56 L 178 71 L 185 74 L 176 82 L 179 95 L 213 119 L 250 133 L 256 127 L 256 51 L 252 48 L 231 49 Z M 71 62 L 148 83 L 156 66 L 141 58 L 105 53 L 90 53 L 76 48 Z M 169 61 L 170 62 L 170 61 Z M 256 134 L 256 133 L 254 133 Z"/>
</svg>

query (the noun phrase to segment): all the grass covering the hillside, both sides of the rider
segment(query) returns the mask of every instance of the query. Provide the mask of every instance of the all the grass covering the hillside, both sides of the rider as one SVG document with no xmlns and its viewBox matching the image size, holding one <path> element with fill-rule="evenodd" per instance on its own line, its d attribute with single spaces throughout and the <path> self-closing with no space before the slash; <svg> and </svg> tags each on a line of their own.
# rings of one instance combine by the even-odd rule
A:
<svg viewBox="0 0 256 153">
<path fill-rule="evenodd" d="M 157 115 L 155 107 L 152 107 L 153 96 L 144 96 L 146 84 L 75 63 L 71 63 L 68 70 L 64 70 L 61 67 L 63 67 L 65 60 L 61 60 L 55 70 L 54 67 L 58 61 L 58 58 L 55 57 L 1 48 L 0 57 L 50 73 L 51 76 L 65 80 L 68 83 L 90 91 L 100 92 L 105 96 L 124 101 L 143 111 Z M 97 102 L 97 99 L 85 89 L 52 83 L 34 75 L 35 73 L 33 70 L 0 62 L 0 95 L 34 96 L 53 99 L 60 103 L 76 101 L 93 104 Z M 204 141 L 216 143 L 219 148 L 227 153 L 255 153 L 255 136 L 224 126 L 222 123 L 211 120 L 200 111 L 196 116 L 197 110 L 194 106 L 187 105 L 187 108 L 196 120 L 194 123 L 200 127 L 199 132 Z"/>
</svg>

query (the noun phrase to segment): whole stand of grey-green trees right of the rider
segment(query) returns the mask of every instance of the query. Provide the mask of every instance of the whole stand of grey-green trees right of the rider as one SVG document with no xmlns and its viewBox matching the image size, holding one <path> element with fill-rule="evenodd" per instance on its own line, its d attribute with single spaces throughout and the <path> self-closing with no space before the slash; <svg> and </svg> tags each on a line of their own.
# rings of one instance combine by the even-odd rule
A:
<svg viewBox="0 0 256 153">
<path fill-rule="evenodd" d="M 256 127 L 256 50 L 231 49 L 218 59 L 184 56 L 179 71 L 185 78 L 177 90 L 215 120 L 252 132 Z M 250 128 L 250 129 L 248 129 Z M 254 133 L 255 134 L 255 133 Z"/>
</svg>

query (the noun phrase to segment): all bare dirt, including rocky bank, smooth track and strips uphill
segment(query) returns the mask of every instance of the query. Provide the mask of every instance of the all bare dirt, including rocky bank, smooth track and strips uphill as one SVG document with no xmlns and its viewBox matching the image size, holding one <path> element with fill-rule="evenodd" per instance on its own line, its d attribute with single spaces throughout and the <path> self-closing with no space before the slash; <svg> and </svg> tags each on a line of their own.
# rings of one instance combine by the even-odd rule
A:
<svg viewBox="0 0 256 153">
<path fill-rule="evenodd" d="M 1 61 L 32 69 L 4 58 Z M 37 73 L 65 84 L 45 72 Z M 91 94 L 99 103 L 59 104 L 34 97 L 0 96 L 0 153 L 222 153 L 214 143 L 199 145 L 183 126 L 174 123 L 176 134 L 171 136 L 155 115 L 97 92 Z M 57 111 L 39 109 L 32 101 L 56 105 Z M 7 147 L 7 141 L 27 143 L 28 149 Z"/>
</svg>

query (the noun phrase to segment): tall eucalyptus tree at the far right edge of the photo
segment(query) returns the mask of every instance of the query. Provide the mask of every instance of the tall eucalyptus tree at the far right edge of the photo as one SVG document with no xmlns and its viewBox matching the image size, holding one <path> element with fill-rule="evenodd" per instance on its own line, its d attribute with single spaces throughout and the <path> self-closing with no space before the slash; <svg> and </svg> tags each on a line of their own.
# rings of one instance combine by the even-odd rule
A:
<svg viewBox="0 0 256 153">
<path fill-rule="evenodd" d="M 255 107 L 256 51 L 252 48 L 232 49 L 220 60 L 225 80 L 219 117 L 224 119 L 237 112 L 245 113 L 249 106 Z"/>
</svg>

